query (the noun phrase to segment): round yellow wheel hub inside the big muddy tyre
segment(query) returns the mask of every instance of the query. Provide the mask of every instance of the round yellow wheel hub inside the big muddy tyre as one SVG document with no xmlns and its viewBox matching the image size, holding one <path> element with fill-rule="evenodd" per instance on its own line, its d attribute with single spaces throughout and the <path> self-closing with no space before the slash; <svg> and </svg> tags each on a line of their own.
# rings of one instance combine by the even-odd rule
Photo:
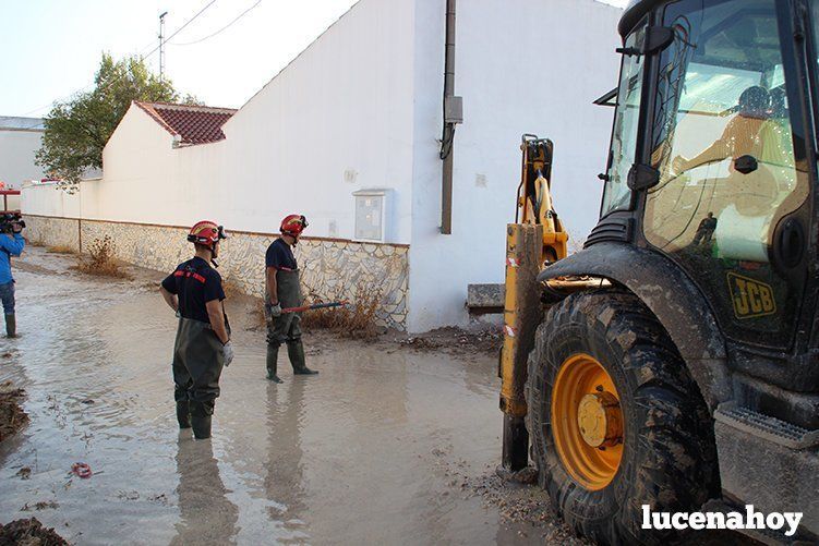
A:
<svg viewBox="0 0 819 546">
<path fill-rule="evenodd" d="M 552 435 L 566 471 L 589 490 L 607 486 L 623 458 L 617 389 L 588 354 L 566 359 L 552 389 Z"/>
</svg>

